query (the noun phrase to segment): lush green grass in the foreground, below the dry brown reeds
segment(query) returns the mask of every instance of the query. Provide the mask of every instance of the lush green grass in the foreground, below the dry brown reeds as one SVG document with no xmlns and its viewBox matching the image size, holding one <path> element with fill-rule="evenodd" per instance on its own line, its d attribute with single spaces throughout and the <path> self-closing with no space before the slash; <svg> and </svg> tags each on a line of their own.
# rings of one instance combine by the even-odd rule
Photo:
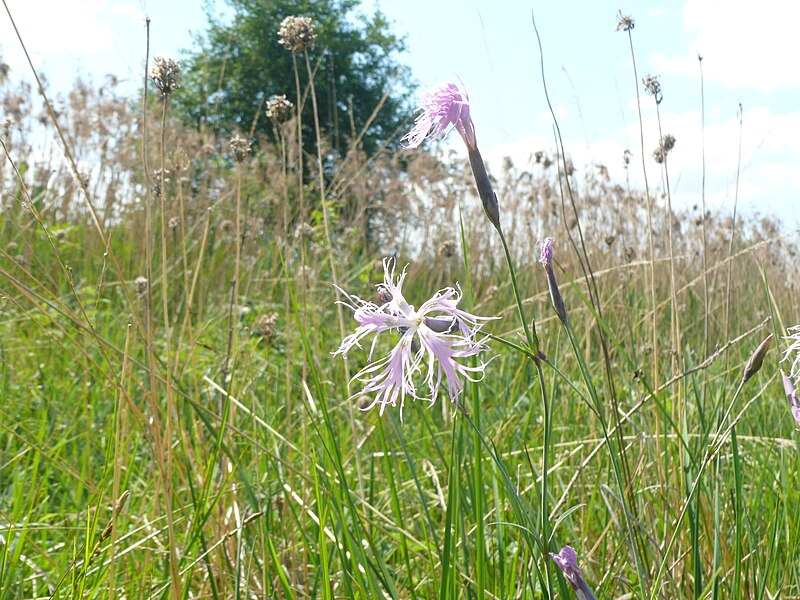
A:
<svg viewBox="0 0 800 600">
<path fill-rule="evenodd" d="M 53 266 L 73 264 L 77 249 L 93 243 L 78 235 L 73 250 L 50 247 L 30 231 L 25 243 L 37 264 L 8 261 L 2 268 L 4 598 L 46 597 L 56 586 L 61 597 L 158 597 L 173 579 L 181 595 L 210 597 L 538 597 L 548 593 L 541 588 L 547 578 L 536 573 L 547 570 L 559 595 L 541 554 L 542 506 L 552 509 L 548 547 L 576 547 L 598 597 L 766 598 L 798 589 L 800 465 L 776 377 L 778 353 L 734 395 L 744 362 L 768 329 L 756 328 L 695 370 L 703 359 L 703 314 L 690 302 L 695 308 L 683 318 L 694 325 L 684 331 L 680 353 L 689 374 L 664 385 L 641 367 L 649 364 L 640 353 L 649 323 L 641 281 L 614 289 L 601 279 L 600 318 L 582 282 L 562 278 L 568 330 L 537 296 L 526 310 L 541 321 L 552 408 L 543 503 L 542 388 L 526 355 L 493 343 L 485 379 L 465 395 L 476 429 L 452 406 L 443 412 L 424 403 L 408 404 L 403 423 L 396 411 L 357 411 L 352 429 L 348 397 L 356 389 L 348 387 L 343 361 L 331 356 L 339 339 L 335 291 L 322 267 L 301 306 L 302 282 L 292 276 L 297 258 L 285 256 L 281 274 L 281 257 L 267 239 L 253 269 L 242 273 L 247 291 L 238 304 L 278 309 L 277 332 L 269 340 L 252 335 L 255 316 L 243 314 L 236 367 L 226 380 L 228 286 L 214 289 L 206 278 L 229 281 L 221 276 L 229 265 L 201 265 L 207 291 L 202 317 L 190 320 L 193 337 L 168 357 L 156 326 L 151 398 L 147 344 L 136 325 L 128 326 L 142 307 L 120 293 L 128 286 L 135 298 L 131 283 L 105 274 L 93 284 L 102 255 L 72 269 L 72 286 Z M 113 238 L 119 256 L 137 251 L 121 231 Z M 371 259 L 360 260 L 341 262 L 342 284 L 368 297 L 370 285 L 358 274 Z M 179 265 L 171 272 L 180 323 L 183 277 Z M 464 270 L 454 279 L 502 286 L 482 314 L 510 307 L 511 290 L 499 278 L 472 281 Z M 533 266 L 520 279 L 523 297 L 546 285 Z M 416 302 L 435 288 L 426 271 L 409 284 Z M 775 292 L 769 285 L 767 291 Z M 153 293 L 157 298 L 157 285 Z M 768 297 L 758 280 L 752 293 L 735 294 L 741 322 L 758 324 Z M 289 312 L 281 310 L 286 301 Z M 669 318 L 660 321 L 668 336 Z M 609 376 L 600 328 L 610 347 Z M 515 329 L 511 317 L 491 325 L 510 341 Z M 353 353 L 349 371 L 364 359 Z M 125 490 L 127 503 L 100 541 Z"/>
</svg>

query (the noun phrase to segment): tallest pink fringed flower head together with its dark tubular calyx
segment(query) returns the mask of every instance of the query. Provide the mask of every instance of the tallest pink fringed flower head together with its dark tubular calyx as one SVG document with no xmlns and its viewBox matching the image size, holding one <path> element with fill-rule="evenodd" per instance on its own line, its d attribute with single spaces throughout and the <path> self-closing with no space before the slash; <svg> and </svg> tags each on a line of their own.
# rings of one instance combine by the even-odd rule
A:
<svg viewBox="0 0 800 600">
<path fill-rule="evenodd" d="M 486 165 L 478 151 L 475 125 L 470 116 L 469 95 L 455 83 L 443 83 L 422 95 L 418 110 L 420 114 L 414 127 L 400 141 L 407 140 L 408 148 L 417 148 L 426 138 L 444 137 L 450 129 L 458 131 L 467 145 L 469 165 L 475 177 L 483 211 L 495 229 L 500 231 L 497 194 L 492 189 Z"/>
</svg>

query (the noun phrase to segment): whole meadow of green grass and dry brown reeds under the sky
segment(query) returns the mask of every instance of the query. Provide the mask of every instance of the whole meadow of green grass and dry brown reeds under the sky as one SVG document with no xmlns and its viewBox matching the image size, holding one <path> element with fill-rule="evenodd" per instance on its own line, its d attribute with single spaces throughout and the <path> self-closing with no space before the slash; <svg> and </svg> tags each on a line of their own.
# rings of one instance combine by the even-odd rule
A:
<svg viewBox="0 0 800 600">
<path fill-rule="evenodd" d="M 229 149 L 150 93 L 77 87 L 60 136 L 3 88 L 0 598 L 567 598 L 564 545 L 597 598 L 800 596 L 794 234 L 559 149 L 495 167 L 501 236 L 465 161 Z M 371 338 L 333 354 L 389 255 L 497 317 L 461 410 L 362 411 Z"/>
</svg>

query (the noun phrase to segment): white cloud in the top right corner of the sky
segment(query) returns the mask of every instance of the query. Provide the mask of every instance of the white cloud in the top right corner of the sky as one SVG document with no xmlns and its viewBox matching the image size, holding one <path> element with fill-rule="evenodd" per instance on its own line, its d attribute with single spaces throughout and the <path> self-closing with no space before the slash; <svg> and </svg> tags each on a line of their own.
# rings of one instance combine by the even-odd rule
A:
<svg viewBox="0 0 800 600">
<path fill-rule="evenodd" d="M 655 55 L 663 73 L 697 75 L 697 54 L 710 81 L 732 89 L 773 91 L 800 86 L 800 3 L 784 0 L 688 0 L 686 30 L 694 37 L 680 57 Z"/>
</svg>

